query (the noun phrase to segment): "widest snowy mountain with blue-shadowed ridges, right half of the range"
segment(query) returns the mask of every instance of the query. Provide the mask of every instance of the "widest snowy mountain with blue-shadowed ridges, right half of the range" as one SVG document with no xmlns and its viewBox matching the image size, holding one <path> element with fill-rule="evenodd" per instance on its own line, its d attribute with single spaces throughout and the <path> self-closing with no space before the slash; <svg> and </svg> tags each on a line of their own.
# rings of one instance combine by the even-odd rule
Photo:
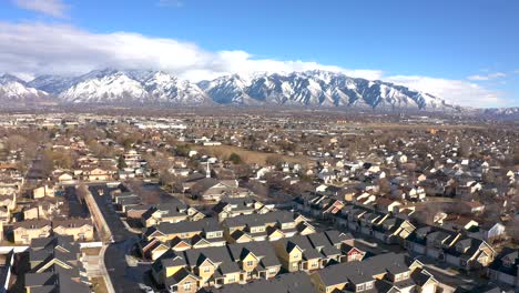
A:
<svg viewBox="0 0 519 293">
<path fill-rule="evenodd" d="M 263 74 L 252 80 L 234 74 L 199 85 L 217 103 L 452 109 L 440 98 L 406 87 L 317 70 Z"/>
</svg>

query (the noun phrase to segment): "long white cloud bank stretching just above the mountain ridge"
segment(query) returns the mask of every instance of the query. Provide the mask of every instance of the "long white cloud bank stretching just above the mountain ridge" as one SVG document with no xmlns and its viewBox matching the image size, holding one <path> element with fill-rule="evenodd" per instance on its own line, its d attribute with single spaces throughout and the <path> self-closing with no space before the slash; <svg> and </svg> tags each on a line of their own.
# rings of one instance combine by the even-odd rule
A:
<svg viewBox="0 0 519 293">
<path fill-rule="evenodd" d="M 387 80 L 462 105 L 495 105 L 499 93 L 462 81 L 428 77 L 385 77 L 299 60 L 256 59 L 244 51 L 212 52 L 194 43 L 139 33 L 92 33 L 72 26 L 0 22 L 0 71 L 13 74 L 81 74 L 93 69 L 163 70 L 199 81 L 230 73 L 329 70 L 354 78 Z"/>
</svg>

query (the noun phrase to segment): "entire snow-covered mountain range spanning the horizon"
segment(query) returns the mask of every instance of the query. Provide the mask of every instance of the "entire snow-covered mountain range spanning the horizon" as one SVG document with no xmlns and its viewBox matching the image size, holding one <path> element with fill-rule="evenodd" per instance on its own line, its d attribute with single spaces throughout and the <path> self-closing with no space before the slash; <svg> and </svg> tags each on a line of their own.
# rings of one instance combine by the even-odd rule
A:
<svg viewBox="0 0 519 293">
<path fill-rule="evenodd" d="M 162 71 L 104 69 L 79 77 L 0 77 L 0 102 L 106 105 L 352 107 L 459 112 L 439 97 L 329 71 L 232 74 L 191 82 Z M 487 112 L 491 114 L 491 112 Z M 513 112 L 517 113 L 517 112 Z"/>
</svg>

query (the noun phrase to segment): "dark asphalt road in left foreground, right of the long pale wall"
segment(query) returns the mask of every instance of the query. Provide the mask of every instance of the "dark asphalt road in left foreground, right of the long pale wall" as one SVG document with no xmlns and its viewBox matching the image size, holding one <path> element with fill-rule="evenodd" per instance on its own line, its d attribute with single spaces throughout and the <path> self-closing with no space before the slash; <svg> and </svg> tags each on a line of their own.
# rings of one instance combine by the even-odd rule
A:
<svg viewBox="0 0 519 293">
<path fill-rule="evenodd" d="M 103 184 L 91 185 L 89 189 L 113 234 L 114 243 L 106 247 L 104 254 L 104 265 L 112 280 L 113 289 L 118 293 L 141 292 L 139 283 L 142 283 L 144 272 L 150 270 L 150 265 L 129 266 L 126 262 L 126 255 L 131 254 L 139 236 L 125 229 L 112 205 L 109 188 Z M 101 195 L 99 190 L 103 190 L 106 195 Z"/>
</svg>

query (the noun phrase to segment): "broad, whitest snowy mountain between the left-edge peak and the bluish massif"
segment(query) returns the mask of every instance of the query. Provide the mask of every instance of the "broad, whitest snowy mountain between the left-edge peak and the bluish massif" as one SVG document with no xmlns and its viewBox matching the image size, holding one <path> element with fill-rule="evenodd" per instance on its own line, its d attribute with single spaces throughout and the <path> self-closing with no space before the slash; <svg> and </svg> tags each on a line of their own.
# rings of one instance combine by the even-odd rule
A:
<svg viewBox="0 0 519 293">
<path fill-rule="evenodd" d="M 205 93 L 190 81 L 179 80 L 164 72 L 92 71 L 74 80 L 61 91 L 65 103 L 102 104 L 200 104 Z"/>
</svg>

